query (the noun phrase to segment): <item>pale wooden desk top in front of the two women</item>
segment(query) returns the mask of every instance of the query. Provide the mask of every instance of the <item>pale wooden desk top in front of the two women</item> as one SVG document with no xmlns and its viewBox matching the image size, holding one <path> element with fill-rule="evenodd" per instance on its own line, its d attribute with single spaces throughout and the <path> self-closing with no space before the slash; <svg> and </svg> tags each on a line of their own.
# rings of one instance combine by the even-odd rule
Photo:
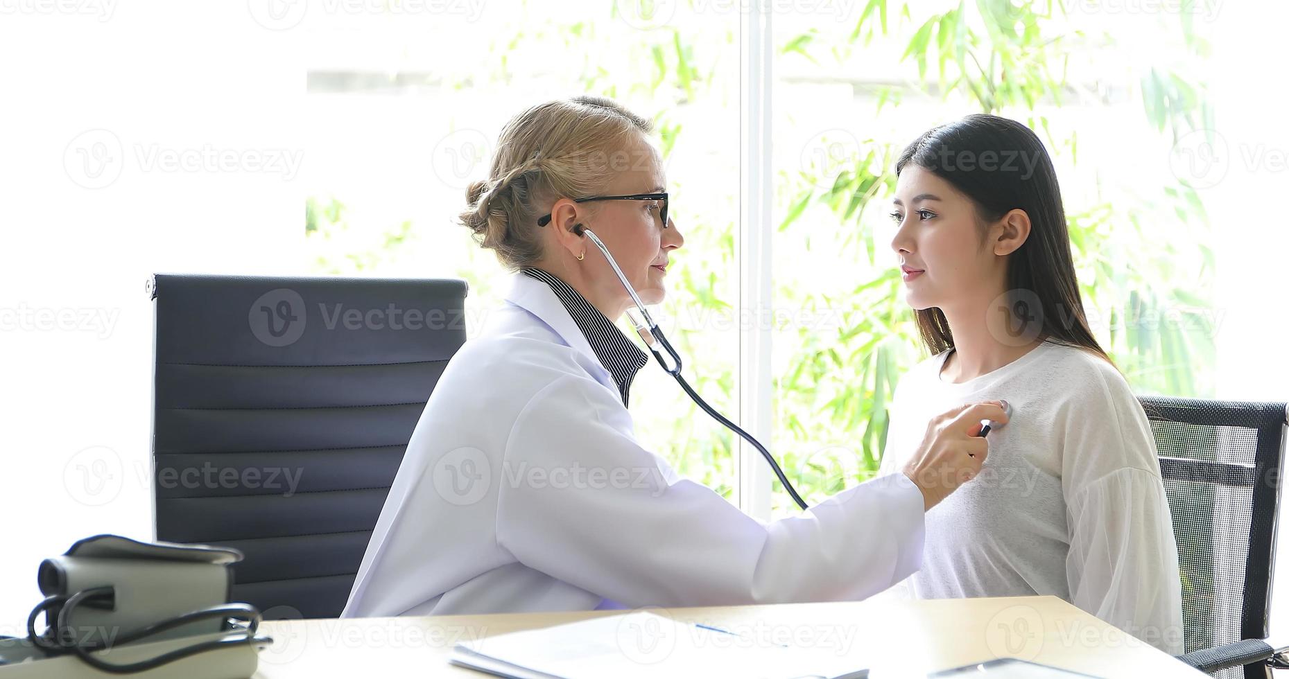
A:
<svg viewBox="0 0 1289 679">
<path fill-rule="evenodd" d="M 757 639 L 840 653 L 873 678 L 922 676 L 1003 656 L 1097 676 L 1207 676 L 1054 597 L 869 600 L 655 609 Z M 258 679 L 487 675 L 447 664 L 452 644 L 623 611 L 286 620 L 260 627 Z M 692 629 L 686 626 L 686 629 Z"/>
</svg>

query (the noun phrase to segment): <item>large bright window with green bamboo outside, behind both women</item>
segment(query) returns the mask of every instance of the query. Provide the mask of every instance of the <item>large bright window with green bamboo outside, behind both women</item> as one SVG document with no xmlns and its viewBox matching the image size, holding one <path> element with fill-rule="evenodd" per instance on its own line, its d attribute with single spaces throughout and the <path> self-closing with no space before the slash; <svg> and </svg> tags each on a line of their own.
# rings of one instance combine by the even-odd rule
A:
<svg viewBox="0 0 1289 679">
<path fill-rule="evenodd" d="M 108 5 L 0 22 L 8 90 L 41 102 L 0 130 L 0 496 L 43 508 L 12 527 L 0 576 L 27 585 L 0 593 L 0 634 L 21 633 L 41 558 L 151 532 L 148 274 L 459 277 L 477 332 L 505 277 L 455 215 L 505 120 L 554 97 L 655 119 L 687 238 L 655 316 L 808 497 L 873 474 L 922 358 L 892 276 L 892 153 L 967 112 L 1049 143 L 1098 338 L 1136 389 L 1289 398 L 1279 4 Z M 682 474 L 762 519 L 791 509 L 655 366 L 632 411 Z"/>
</svg>

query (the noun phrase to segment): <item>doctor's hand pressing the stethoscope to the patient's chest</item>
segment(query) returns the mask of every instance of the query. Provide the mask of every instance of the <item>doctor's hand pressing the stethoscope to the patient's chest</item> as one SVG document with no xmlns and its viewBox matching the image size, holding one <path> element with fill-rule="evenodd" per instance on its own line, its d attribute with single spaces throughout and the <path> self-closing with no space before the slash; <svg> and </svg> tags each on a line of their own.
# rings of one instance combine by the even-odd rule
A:
<svg viewBox="0 0 1289 679">
<path fill-rule="evenodd" d="M 927 510 L 980 474 L 980 466 L 989 456 L 989 442 L 980 435 L 981 420 L 1005 424 L 1008 417 L 1003 403 L 968 403 L 936 415 L 927 423 L 922 443 L 902 470 L 922 491 Z"/>
</svg>

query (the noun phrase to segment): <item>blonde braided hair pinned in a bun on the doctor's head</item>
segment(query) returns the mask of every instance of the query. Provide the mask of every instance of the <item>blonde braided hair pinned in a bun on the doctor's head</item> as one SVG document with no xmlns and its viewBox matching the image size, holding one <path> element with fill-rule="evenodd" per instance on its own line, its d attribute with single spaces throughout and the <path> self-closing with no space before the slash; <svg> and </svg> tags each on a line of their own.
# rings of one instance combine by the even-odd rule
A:
<svg viewBox="0 0 1289 679">
<path fill-rule="evenodd" d="M 603 97 L 545 102 L 510 120 L 498 138 L 487 179 L 465 189 L 460 214 L 474 240 L 509 269 L 541 259 L 538 218 L 556 197 L 598 193 L 612 179 L 608 158 L 652 122 Z"/>
</svg>

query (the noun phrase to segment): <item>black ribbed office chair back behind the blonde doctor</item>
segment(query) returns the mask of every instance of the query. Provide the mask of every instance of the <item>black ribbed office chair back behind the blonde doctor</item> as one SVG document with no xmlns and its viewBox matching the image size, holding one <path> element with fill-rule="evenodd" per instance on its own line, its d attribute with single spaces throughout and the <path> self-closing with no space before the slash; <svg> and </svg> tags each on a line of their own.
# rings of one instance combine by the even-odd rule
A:
<svg viewBox="0 0 1289 679">
<path fill-rule="evenodd" d="M 156 274 L 156 539 L 240 549 L 231 600 L 335 617 L 465 341 L 464 281 Z"/>
</svg>

